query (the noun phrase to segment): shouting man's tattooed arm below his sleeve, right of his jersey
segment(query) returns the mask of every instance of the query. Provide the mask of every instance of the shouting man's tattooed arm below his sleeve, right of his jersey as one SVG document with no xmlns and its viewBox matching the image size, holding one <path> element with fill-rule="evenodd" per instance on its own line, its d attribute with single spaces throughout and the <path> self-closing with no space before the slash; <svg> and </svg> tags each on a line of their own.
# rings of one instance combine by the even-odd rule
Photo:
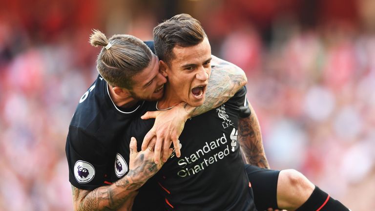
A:
<svg viewBox="0 0 375 211">
<path fill-rule="evenodd" d="M 251 110 L 251 115 L 240 119 L 238 122 L 237 140 L 240 143 L 246 163 L 260 168 L 270 169 L 263 148 L 258 118 L 250 104 L 249 108 Z"/>
</svg>

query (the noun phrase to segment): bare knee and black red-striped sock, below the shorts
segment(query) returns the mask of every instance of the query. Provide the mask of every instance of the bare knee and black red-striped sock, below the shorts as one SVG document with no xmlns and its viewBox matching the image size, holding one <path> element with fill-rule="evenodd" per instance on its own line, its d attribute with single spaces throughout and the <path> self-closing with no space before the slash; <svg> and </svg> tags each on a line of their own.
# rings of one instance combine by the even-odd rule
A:
<svg viewBox="0 0 375 211">
<path fill-rule="evenodd" d="M 294 169 L 282 170 L 279 173 L 277 205 L 288 211 L 349 211 Z"/>
</svg>

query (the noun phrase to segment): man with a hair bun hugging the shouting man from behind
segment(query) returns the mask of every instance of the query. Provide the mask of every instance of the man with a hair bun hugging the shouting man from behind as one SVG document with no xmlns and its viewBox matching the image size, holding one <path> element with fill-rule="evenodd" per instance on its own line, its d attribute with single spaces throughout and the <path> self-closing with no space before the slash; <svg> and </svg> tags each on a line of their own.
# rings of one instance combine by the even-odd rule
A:
<svg viewBox="0 0 375 211">
<path fill-rule="evenodd" d="M 116 147 L 125 140 L 124 131 L 130 120 L 138 117 L 145 100 L 158 100 L 163 96 L 166 78 L 159 72 L 158 58 L 144 42 L 133 36 L 114 35 L 107 40 L 103 33 L 94 31 L 90 42 L 103 46 L 97 59 L 99 76 L 79 100 L 69 126 L 65 148 L 69 181 L 75 210 L 114 210 L 132 202 L 138 188 L 163 164 L 154 163 L 161 157 L 160 150 L 133 153 L 125 162 L 116 155 Z M 220 80 L 215 81 L 210 90 L 216 98 L 208 98 L 200 107 L 177 105 L 159 115 L 155 122 L 161 134 L 167 133 L 164 142 L 169 146 L 173 142 L 177 156 L 179 145 L 175 137 L 181 133 L 185 121 L 222 104 L 246 84 L 241 69 L 217 61 L 221 64 L 215 77 Z M 222 63 L 226 70 L 222 69 Z M 230 79 L 232 74 L 237 76 L 234 80 Z M 222 92 L 227 95 L 221 95 Z M 155 139 L 150 148 L 158 143 Z M 112 184 L 113 172 L 124 177 Z"/>
</svg>

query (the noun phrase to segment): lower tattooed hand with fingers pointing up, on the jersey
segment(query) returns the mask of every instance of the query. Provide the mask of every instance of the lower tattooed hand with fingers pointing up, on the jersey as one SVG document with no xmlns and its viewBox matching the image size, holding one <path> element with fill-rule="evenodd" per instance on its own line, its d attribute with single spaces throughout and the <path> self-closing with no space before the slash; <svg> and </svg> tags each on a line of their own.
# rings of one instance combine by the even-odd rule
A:
<svg viewBox="0 0 375 211">
<path fill-rule="evenodd" d="M 145 151 L 137 151 L 137 140 L 134 137 L 130 139 L 129 155 L 129 173 L 134 183 L 144 184 L 148 178 L 153 176 L 162 168 L 164 162 L 154 163 L 153 145 L 156 140 L 151 140 L 150 146 Z M 167 151 L 166 157 L 172 154 L 172 149 Z M 163 152 L 164 153 L 164 152 Z"/>
</svg>

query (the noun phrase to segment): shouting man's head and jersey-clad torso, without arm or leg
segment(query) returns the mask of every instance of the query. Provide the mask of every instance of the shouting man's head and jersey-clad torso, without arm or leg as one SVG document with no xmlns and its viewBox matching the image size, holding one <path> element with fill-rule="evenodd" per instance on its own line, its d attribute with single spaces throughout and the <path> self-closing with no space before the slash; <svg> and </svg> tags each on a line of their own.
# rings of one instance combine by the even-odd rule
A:
<svg viewBox="0 0 375 211">
<path fill-rule="evenodd" d="M 185 14 L 171 20 L 154 29 L 156 52 L 167 61 L 159 62 L 160 71 L 167 78 L 165 95 L 157 102 L 147 102 L 141 114 L 170 109 L 180 103 L 202 105 L 210 85 L 211 48 L 202 26 Z M 159 46 L 163 49 L 158 49 Z M 164 209 L 255 210 L 236 141 L 239 114 L 250 114 L 240 109 L 245 96 L 243 88 L 223 105 L 187 120 L 179 138 L 183 155 L 178 158 L 172 154 L 153 180 L 147 182 L 157 180 L 164 195 Z M 120 143 L 118 155 L 125 160 L 129 154 L 132 156 L 137 150 L 136 140 L 142 140 L 152 124 L 152 120 L 135 118 L 125 131 L 128 135 L 125 140 L 131 138 L 132 147 L 129 148 L 127 142 Z M 141 188 L 140 196 L 143 192 Z M 142 210 L 138 203 L 141 201 L 136 202 L 134 209 Z"/>
</svg>

